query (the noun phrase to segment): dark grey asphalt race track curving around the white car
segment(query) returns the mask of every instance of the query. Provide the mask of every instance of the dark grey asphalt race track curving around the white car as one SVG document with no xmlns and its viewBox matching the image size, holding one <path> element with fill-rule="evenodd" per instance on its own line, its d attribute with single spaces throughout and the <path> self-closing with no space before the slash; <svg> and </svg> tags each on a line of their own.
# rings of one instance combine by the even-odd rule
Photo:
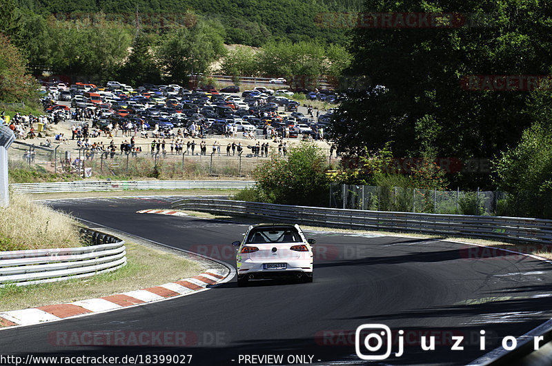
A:
<svg viewBox="0 0 552 366">
<path fill-rule="evenodd" d="M 242 238 L 247 225 L 135 213 L 168 208 L 175 199 L 71 199 L 49 204 L 78 218 L 234 266 L 230 243 Z M 544 261 L 417 238 L 307 234 L 317 241 L 313 283 L 266 281 L 239 288 L 233 279 L 192 296 L 3 329 L 0 354 L 141 355 L 144 362 L 146 356 L 191 354 L 192 365 L 364 365 L 368 361 L 355 353 L 355 329 L 372 323 L 390 327 L 393 338 L 393 354 L 373 361 L 375 365 L 464 365 L 495 349 L 505 336 L 517 338 L 552 318 L 552 265 Z M 481 330 L 485 350 L 480 350 Z M 83 332 L 119 332 L 128 345 L 105 338 L 101 345 L 63 344 Z M 138 345 L 136 338 L 129 341 L 140 332 L 157 332 L 161 342 L 148 346 Z M 176 333 L 186 334 L 186 347 L 173 346 Z M 69 338 L 63 338 L 67 334 Z M 400 335 L 404 354 L 396 357 Z M 421 336 L 434 336 L 435 350 L 422 350 Z M 463 337 L 464 349 L 451 350 L 452 336 Z M 377 353 L 385 350 L 386 345 Z M 283 356 L 282 362 L 263 355 Z"/>
</svg>

